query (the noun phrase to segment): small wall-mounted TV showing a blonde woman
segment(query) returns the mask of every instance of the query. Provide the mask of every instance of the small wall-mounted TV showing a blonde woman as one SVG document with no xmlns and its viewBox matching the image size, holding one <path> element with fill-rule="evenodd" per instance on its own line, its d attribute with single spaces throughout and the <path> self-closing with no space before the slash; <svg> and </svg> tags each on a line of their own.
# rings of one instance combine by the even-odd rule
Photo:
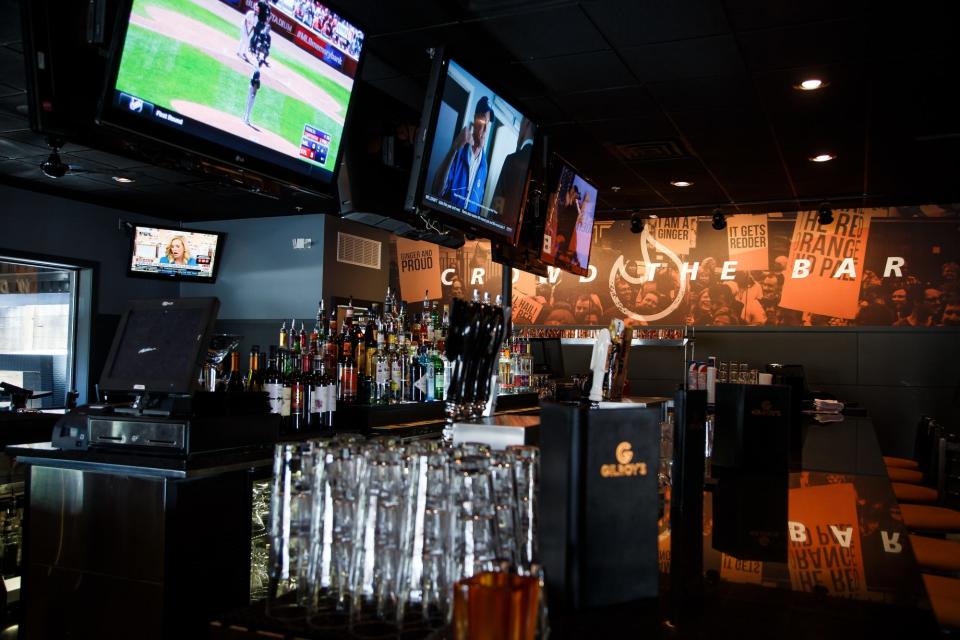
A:
<svg viewBox="0 0 960 640">
<path fill-rule="evenodd" d="M 127 275 L 215 282 L 225 237 L 219 231 L 134 225 Z"/>
</svg>

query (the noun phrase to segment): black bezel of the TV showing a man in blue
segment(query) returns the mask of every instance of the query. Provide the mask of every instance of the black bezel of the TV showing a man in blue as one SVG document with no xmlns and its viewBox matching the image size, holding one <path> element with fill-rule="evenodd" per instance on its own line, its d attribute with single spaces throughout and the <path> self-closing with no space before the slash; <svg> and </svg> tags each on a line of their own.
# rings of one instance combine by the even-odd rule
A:
<svg viewBox="0 0 960 640">
<path fill-rule="evenodd" d="M 460 68 L 474 76 L 486 85 L 491 91 L 493 91 L 498 97 L 502 98 L 504 101 L 507 101 L 511 107 L 516 109 L 521 117 L 525 117 L 530 122 L 533 123 L 536 127 L 533 134 L 533 143 L 534 148 L 536 148 L 537 141 L 540 138 L 540 129 L 541 125 L 539 122 L 530 117 L 530 114 L 526 109 L 521 110 L 517 106 L 516 100 L 513 100 L 509 97 L 509 93 L 503 92 L 500 90 L 495 83 L 490 83 L 486 78 L 482 78 L 473 72 L 473 69 L 470 68 L 470 65 L 463 64 L 463 57 L 457 56 L 456 53 L 450 51 L 442 51 L 437 54 L 440 56 L 440 62 L 434 67 L 432 73 L 434 74 L 433 81 L 435 83 L 435 90 L 433 94 L 426 96 L 424 101 L 424 117 L 422 124 L 424 125 L 424 131 L 422 132 L 423 140 L 423 150 L 420 157 L 415 159 L 415 162 L 419 161 L 420 166 L 414 167 L 415 171 L 418 171 L 416 191 L 413 197 L 413 205 L 416 209 L 423 210 L 429 209 L 430 215 L 442 220 L 445 224 L 453 227 L 454 229 L 459 229 L 465 233 L 474 235 L 478 238 L 485 238 L 492 242 L 509 242 L 515 244 L 517 237 L 520 234 L 520 227 L 523 224 L 523 215 L 524 215 L 524 203 L 527 200 L 528 192 L 530 189 L 530 173 L 533 166 L 533 158 L 531 155 L 530 163 L 527 165 L 527 171 L 524 175 L 524 184 L 523 184 L 523 194 L 520 198 L 520 211 L 517 213 L 517 222 L 514 224 L 513 232 L 511 234 L 498 232 L 496 229 L 485 226 L 483 224 L 475 223 L 470 218 L 464 217 L 463 214 L 454 213 L 440 205 L 430 202 L 426 199 L 426 181 L 427 181 L 427 168 L 430 164 L 430 156 L 433 152 L 433 143 L 436 138 L 436 121 L 437 116 L 440 111 L 440 104 L 443 102 L 443 89 L 446 86 L 446 81 L 448 78 L 448 72 L 450 68 L 450 62 L 454 61 L 457 63 Z M 409 200 L 409 199 L 408 199 Z"/>
</svg>

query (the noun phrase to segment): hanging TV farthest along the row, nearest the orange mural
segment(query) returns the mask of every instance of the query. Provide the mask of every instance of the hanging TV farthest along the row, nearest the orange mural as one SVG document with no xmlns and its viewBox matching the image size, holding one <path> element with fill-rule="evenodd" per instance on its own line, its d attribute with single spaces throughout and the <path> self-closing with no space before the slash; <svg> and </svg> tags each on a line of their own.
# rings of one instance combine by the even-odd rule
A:
<svg viewBox="0 0 960 640">
<path fill-rule="evenodd" d="M 588 275 L 597 188 L 556 156 L 552 175 L 540 260 L 575 275 Z"/>
</svg>

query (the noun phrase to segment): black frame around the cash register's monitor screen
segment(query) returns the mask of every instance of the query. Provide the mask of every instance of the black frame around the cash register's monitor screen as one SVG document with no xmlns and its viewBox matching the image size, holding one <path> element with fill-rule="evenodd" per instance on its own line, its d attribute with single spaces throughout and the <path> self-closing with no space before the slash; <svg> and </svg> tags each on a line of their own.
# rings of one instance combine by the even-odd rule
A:
<svg viewBox="0 0 960 640">
<path fill-rule="evenodd" d="M 170 307 L 200 309 L 204 312 L 203 333 L 197 336 L 196 352 L 187 354 L 190 356 L 190 370 L 187 371 L 187 365 L 178 375 L 170 375 L 167 378 L 151 378 L 149 380 L 127 380 L 120 377 L 111 377 L 110 371 L 113 369 L 120 345 L 123 341 L 123 333 L 126 330 L 132 312 L 143 311 L 162 311 Z M 120 322 L 117 324 L 117 330 L 113 335 L 113 342 L 110 344 L 110 352 L 103 363 L 103 371 L 100 373 L 100 390 L 126 393 L 173 393 L 187 394 L 193 391 L 197 381 L 197 368 L 203 365 L 207 355 L 207 346 L 210 344 L 210 336 L 213 333 L 217 321 L 217 313 L 220 310 L 220 300 L 216 297 L 207 296 L 199 298 L 160 298 L 150 300 L 130 300 L 127 303 Z M 143 388 L 140 388 L 142 385 Z"/>
</svg>

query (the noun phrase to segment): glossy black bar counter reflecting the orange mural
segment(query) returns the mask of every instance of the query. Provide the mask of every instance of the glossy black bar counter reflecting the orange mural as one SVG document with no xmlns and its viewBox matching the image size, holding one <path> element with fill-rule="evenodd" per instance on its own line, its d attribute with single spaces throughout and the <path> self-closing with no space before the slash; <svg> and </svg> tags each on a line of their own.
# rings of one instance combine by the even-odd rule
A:
<svg viewBox="0 0 960 640">
<path fill-rule="evenodd" d="M 660 596 L 589 610 L 550 609 L 551 638 L 601 635 L 671 638 L 928 637 L 937 626 L 926 598 L 867 418 L 819 424 L 806 418 L 780 492 L 786 519 L 773 526 L 790 542 L 767 558 L 755 551 L 757 518 L 766 517 L 769 491 L 730 474 L 708 479 L 703 493 L 703 579 L 681 593 L 670 585 L 670 533 L 660 535 Z M 723 493 L 722 499 L 718 496 Z M 729 500 L 732 497 L 733 500 Z M 669 506 L 669 505 L 668 505 Z M 774 505 L 776 511 L 777 505 Z M 669 512 L 669 508 L 666 509 Z M 758 513 L 759 512 L 759 513 Z M 767 523 L 769 524 L 769 523 Z M 726 544 L 718 529 L 732 525 Z M 727 531 L 722 531 L 726 534 Z M 542 531 L 542 535 L 549 535 Z M 737 544 L 748 549 L 738 557 Z M 715 549 L 715 544 L 726 551 Z M 753 550 L 753 552 L 750 551 Z M 763 555 L 762 553 L 760 554 Z M 777 557 L 779 556 L 779 557 Z M 548 603 L 549 604 L 549 603 Z M 216 617 L 215 638 L 353 638 L 389 625 L 363 621 L 318 630 L 279 623 L 253 604 Z M 271 636 L 273 637 L 273 636 Z M 449 628 L 418 622 L 404 638 L 452 638 Z"/>
</svg>

